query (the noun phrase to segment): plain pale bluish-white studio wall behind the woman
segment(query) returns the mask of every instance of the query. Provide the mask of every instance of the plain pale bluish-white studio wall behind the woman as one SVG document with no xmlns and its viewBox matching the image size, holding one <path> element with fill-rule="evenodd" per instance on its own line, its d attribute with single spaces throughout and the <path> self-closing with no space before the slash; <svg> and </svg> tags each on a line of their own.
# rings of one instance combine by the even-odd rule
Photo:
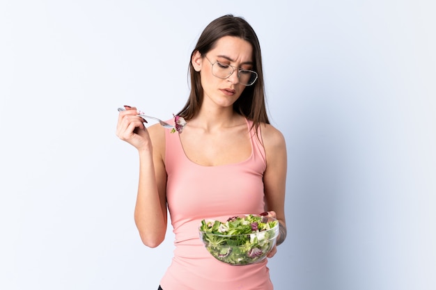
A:
<svg viewBox="0 0 436 290">
<path fill-rule="evenodd" d="M 141 244 L 116 108 L 177 113 L 227 13 L 258 33 L 288 145 L 275 289 L 436 288 L 434 1 L 3 0 L 0 289 L 157 289 L 173 236 Z"/>
</svg>

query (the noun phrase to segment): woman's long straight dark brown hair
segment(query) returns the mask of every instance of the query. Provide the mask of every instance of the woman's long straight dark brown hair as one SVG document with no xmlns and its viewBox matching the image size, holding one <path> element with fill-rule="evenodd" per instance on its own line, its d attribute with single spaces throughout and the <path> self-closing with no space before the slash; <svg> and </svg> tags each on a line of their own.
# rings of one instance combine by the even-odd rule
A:
<svg viewBox="0 0 436 290">
<path fill-rule="evenodd" d="M 217 41 L 224 36 L 235 36 L 246 40 L 253 47 L 253 70 L 258 73 L 256 82 L 244 88 L 240 97 L 233 104 L 233 110 L 245 118 L 253 121 L 253 126 L 258 131 L 260 122 L 270 124 L 265 106 L 265 86 L 263 82 L 262 57 L 260 54 L 260 45 L 254 29 L 242 17 L 233 15 L 221 16 L 206 26 L 196 47 L 192 51 L 189 59 L 188 72 L 191 81 L 191 92 L 187 103 L 178 115 L 189 120 L 194 118 L 198 113 L 201 103 L 203 102 L 203 87 L 201 86 L 200 72 L 196 72 L 192 65 L 192 56 L 198 51 L 205 55 L 215 47 Z"/>
</svg>

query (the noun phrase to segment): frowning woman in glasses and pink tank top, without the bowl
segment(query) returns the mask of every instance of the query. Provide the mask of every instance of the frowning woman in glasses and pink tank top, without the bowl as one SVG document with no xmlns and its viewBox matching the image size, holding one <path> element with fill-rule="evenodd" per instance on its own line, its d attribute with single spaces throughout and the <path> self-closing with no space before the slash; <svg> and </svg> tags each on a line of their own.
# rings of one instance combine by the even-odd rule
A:
<svg viewBox="0 0 436 290">
<path fill-rule="evenodd" d="M 279 220 L 277 245 L 286 237 L 286 145 L 267 118 L 256 33 L 240 17 L 215 19 L 198 39 L 189 72 L 180 134 L 159 124 L 146 129 L 134 107 L 125 106 L 118 118 L 118 137 L 139 151 L 134 218 L 141 240 L 151 248 L 162 243 L 167 206 L 176 235 L 159 289 L 273 289 L 267 259 L 230 266 L 198 238 L 205 218 L 264 211 Z"/>
</svg>

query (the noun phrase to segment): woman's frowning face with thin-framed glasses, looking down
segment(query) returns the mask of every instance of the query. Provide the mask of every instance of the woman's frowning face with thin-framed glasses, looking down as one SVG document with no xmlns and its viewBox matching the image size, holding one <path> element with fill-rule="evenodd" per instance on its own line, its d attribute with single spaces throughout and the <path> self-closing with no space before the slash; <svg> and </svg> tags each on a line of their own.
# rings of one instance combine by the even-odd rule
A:
<svg viewBox="0 0 436 290">
<path fill-rule="evenodd" d="M 219 63 L 235 67 L 233 74 L 227 79 L 220 79 L 212 74 L 212 64 L 219 70 Z M 245 86 L 240 84 L 238 68 L 253 69 L 253 48 L 247 40 L 234 36 L 219 38 L 213 49 L 203 56 L 197 51 L 192 57 L 194 70 L 200 72 L 203 86 L 203 104 L 212 102 L 217 106 L 233 106 L 240 97 Z M 215 73 L 216 74 L 216 73 Z"/>
</svg>

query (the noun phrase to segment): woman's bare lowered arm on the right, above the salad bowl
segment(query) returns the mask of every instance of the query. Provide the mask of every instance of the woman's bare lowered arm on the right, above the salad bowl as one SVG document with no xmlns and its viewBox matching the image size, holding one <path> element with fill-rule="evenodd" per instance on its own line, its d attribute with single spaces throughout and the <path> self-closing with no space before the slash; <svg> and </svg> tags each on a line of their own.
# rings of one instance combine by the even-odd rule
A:
<svg viewBox="0 0 436 290">
<path fill-rule="evenodd" d="M 277 219 L 286 225 L 285 192 L 287 153 L 283 134 L 270 124 L 262 127 L 262 139 L 265 147 L 267 168 L 263 175 L 265 203 L 267 211 L 275 211 Z"/>
</svg>

